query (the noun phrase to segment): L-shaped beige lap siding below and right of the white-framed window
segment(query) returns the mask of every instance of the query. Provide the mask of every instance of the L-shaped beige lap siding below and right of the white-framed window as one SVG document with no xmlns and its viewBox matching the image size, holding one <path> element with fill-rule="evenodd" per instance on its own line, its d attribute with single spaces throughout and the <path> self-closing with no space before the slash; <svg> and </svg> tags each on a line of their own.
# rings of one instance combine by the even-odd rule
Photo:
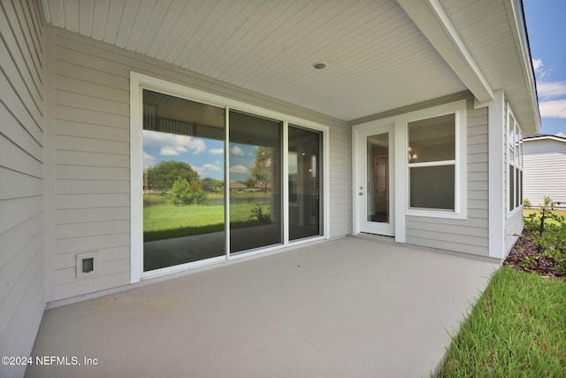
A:
<svg viewBox="0 0 566 378">
<path fill-rule="evenodd" d="M 468 219 L 449 220 L 408 216 L 407 243 L 488 255 L 487 158 L 487 108 L 468 107 Z"/>
</svg>

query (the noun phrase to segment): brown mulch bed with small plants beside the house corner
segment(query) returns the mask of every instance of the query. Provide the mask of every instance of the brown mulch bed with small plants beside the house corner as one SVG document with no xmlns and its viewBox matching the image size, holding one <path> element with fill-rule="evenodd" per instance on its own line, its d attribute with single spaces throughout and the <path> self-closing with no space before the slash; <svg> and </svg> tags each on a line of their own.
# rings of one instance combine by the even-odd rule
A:
<svg viewBox="0 0 566 378">
<path fill-rule="evenodd" d="M 532 272 L 545 277 L 557 277 L 566 280 L 566 272 L 558 270 L 554 258 L 540 256 L 533 259 L 529 266 L 520 266 L 519 263 L 524 258 L 536 256 L 538 246 L 526 240 L 523 236 L 519 237 L 509 256 L 503 261 L 503 266 L 509 266 L 523 272 Z"/>
</svg>

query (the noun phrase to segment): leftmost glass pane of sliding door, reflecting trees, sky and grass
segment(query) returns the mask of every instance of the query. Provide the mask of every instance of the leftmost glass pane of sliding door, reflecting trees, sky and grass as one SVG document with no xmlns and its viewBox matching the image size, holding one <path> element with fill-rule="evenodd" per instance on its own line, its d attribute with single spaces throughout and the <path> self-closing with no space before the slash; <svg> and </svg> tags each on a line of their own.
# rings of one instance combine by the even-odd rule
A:
<svg viewBox="0 0 566 378">
<path fill-rule="evenodd" d="M 143 90 L 144 271 L 226 253 L 224 119 L 223 109 Z"/>
</svg>

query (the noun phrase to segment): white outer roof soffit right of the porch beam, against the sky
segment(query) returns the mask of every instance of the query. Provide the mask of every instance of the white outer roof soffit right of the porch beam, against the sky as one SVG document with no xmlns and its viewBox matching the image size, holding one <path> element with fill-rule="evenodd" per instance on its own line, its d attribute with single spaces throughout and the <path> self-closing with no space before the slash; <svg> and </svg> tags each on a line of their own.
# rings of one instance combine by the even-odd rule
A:
<svg viewBox="0 0 566 378">
<path fill-rule="evenodd" d="M 520 40 L 523 30 L 514 32 L 515 0 L 440 0 L 440 4 L 492 88 L 505 90 L 525 131 L 536 130 L 539 112 L 531 56 Z"/>
</svg>

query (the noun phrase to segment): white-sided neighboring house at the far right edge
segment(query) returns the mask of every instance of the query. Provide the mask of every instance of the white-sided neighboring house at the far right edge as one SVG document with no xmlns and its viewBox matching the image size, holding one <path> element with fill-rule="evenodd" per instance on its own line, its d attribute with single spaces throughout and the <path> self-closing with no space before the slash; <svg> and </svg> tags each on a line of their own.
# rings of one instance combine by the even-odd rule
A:
<svg viewBox="0 0 566 378">
<path fill-rule="evenodd" d="M 566 138 L 540 133 L 525 134 L 523 139 L 523 197 L 533 207 L 550 197 L 566 207 Z"/>
</svg>

